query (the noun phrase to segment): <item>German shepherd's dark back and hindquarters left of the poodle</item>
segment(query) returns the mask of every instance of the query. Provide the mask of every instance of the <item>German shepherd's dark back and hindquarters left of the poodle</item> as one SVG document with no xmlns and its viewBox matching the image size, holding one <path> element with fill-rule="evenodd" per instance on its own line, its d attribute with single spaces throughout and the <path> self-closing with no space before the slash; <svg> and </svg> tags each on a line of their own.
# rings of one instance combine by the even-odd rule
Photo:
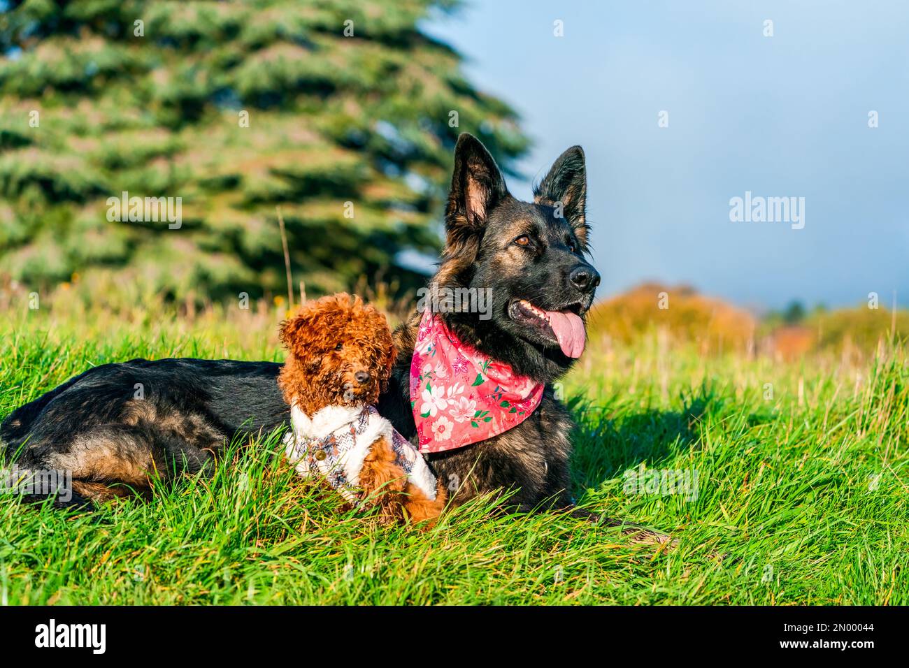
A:
<svg viewBox="0 0 909 668">
<path fill-rule="evenodd" d="M 70 503 L 145 494 L 155 477 L 210 472 L 233 435 L 289 420 L 280 371 L 231 360 L 103 364 L 16 409 L 0 439 L 20 476 L 72 472 Z"/>
</svg>

